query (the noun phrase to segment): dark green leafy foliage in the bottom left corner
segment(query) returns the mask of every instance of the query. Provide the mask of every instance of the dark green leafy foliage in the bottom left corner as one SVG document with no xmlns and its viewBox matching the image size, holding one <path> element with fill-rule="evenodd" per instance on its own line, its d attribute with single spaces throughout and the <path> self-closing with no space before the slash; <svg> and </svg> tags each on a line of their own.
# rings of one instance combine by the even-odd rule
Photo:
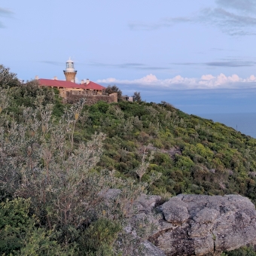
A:
<svg viewBox="0 0 256 256">
<path fill-rule="evenodd" d="M 30 200 L 22 198 L 0 204 L 0 254 L 72 255 L 57 244 L 54 230 L 38 227 L 29 207 Z"/>
</svg>

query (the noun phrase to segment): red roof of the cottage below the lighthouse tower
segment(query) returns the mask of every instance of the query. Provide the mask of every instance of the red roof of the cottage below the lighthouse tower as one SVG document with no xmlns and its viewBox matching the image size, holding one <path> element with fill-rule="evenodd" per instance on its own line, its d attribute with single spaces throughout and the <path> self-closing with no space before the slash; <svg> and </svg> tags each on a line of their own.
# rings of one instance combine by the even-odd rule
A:
<svg viewBox="0 0 256 256">
<path fill-rule="evenodd" d="M 38 82 L 41 86 L 47 87 L 63 87 L 63 88 L 71 88 L 71 89 L 83 89 L 83 90 L 105 90 L 105 87 L 102 87 L 99 84 L 96 84 L 90 81 L 89 84 L 75 84 L 69 81 L 62 80 L 52 80 L 52 79 L 38 79 Z"/>
</svg>

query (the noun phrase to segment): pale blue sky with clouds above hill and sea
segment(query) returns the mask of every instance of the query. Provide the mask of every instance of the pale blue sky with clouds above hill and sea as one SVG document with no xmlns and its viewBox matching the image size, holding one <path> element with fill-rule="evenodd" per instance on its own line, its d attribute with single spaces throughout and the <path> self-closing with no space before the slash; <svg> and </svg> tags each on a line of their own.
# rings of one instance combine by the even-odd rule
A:
<svg viewBox="0 0 256 256">
<path fill-rule="evenodd" d="M 255 0 L 44 0 L 0 4 L 0 63 L 30 80 L 116 84 L 190 114 L 256 112 Z"/>
</svg>

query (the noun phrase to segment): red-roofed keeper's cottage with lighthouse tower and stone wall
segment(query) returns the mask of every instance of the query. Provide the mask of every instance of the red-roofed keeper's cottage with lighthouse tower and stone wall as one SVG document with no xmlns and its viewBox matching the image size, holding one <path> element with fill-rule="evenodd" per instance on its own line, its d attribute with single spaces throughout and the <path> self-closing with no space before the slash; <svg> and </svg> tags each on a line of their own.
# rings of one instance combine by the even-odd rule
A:
<svg viewBox="0 0 256 256">
<path fill-rule="evenodd" d="M 63 101 L 68 103 L 77 102 L 79 99 L 86 98 L 87 104 L 93 104 L 95 102 L 117 102 L 117 93 L 107 94 L 105 93 L 105 87 L 96 84 L 93 81 L 82 80 L 81 84 L 75 83 L 75 76 L 77 71 L 75 70 L 74 62 L 72 59 L 66 62 L 66 69 L 63 71 L 66 77 L 66 81 L 53 79 L 44 79 L 35 77 L 38 80 L 41 87 L 52 87 L 59 90 L 59 95 L 62 96 Z"/>
</svg>

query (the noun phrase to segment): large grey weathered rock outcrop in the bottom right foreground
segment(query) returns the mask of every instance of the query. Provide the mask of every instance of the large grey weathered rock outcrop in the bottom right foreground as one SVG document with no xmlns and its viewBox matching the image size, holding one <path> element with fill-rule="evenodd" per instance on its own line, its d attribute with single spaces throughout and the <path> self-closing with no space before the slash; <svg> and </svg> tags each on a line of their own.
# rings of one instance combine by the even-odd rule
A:
<svg viewBox="0 0 256 256">
<path fill-rule="evenodd" d="M 140 197 L 131 219 L 145 218 L 157 201 Z M 162 218 L 151 219 L 156 230 L 145 242 L 151 255 L 219 255 L 256 241 L 256 211 L 246 197 L 179 195 L 157 211 Z"/>
</svg>

